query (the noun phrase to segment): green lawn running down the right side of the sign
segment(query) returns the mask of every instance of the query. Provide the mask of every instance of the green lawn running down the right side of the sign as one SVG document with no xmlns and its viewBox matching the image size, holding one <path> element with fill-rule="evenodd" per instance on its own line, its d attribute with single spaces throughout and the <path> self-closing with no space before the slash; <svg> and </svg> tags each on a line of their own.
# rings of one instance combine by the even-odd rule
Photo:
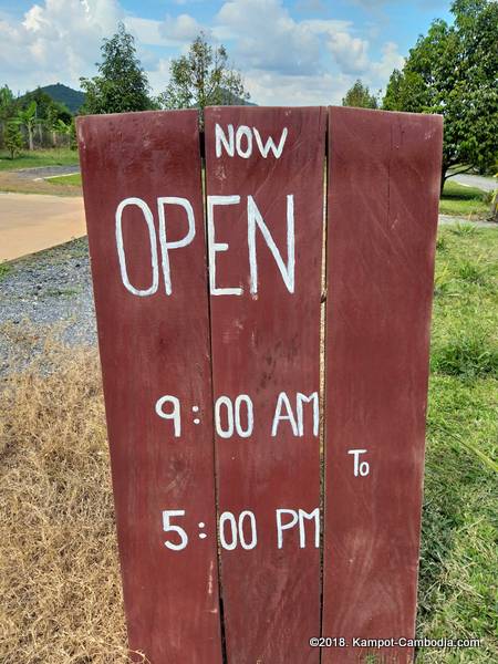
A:
<svg viewBox="0 0 498 664">
<path fill-rule="evenodd" d="M 498 228 L 439 229 L 418 636 L 424 664 L 498 662 Z"/>
</svg>

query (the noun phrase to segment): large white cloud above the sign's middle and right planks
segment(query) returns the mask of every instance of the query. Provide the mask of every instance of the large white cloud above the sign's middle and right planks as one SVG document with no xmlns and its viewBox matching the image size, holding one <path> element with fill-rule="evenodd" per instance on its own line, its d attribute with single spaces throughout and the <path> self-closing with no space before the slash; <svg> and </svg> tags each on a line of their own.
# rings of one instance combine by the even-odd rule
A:
<svg viewBox="0 0 498 664">
<path fill-rule="evenodd" d="M 402 60 L 388 43 L 376 62 L 351 21 L 298 21 L 282 0 L 226 1 L 212 32 L 234 43 L 230 52 L 259 104 L 338 104 L 356 77 L 378 87 Z"/>
</svg>

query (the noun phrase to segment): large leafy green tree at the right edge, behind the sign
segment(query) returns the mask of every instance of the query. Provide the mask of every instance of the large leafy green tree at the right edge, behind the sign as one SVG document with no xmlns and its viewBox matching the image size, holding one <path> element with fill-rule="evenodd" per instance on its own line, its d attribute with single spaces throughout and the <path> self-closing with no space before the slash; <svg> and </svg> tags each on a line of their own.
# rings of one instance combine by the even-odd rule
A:
<svg viewBox="0 0 498 664">
<path fill-rule="evenodd" d="M 456 0 L 452 12 L 453 25 L 436 20 L 418 39 L 383 100 L 388 111 L 443 115 L 442 187 L 457 173 L 488 172 L 498 155 L 498 2 Z"/>
</svg>

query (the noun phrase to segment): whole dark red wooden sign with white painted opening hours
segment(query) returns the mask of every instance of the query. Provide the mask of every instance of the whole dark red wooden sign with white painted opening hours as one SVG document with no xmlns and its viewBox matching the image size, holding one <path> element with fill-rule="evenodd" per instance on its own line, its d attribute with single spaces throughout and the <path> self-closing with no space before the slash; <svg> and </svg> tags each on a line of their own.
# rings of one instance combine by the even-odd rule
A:
<svg viewBox="0 0 498 664">
<path fill-rule="evenodd" d="M 440 120 L 77 134 L 132 656 L 411 662 Z"/>
</svg>

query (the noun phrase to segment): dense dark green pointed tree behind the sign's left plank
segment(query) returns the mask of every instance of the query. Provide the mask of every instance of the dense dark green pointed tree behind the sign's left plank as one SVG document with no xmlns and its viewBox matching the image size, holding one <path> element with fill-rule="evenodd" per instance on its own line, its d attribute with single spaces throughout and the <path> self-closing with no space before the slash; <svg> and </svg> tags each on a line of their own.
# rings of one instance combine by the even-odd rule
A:
<svg viewBox="0 0 498 664">
<path fill-rule="evenodd" d="M 80 79 L 86 93 L 83 113 L 126 113 L 154 107 L 147 75 L 136 56 L 135 40 L 123 23 L 101 46 L 98 75 Z"/>
</svg>

